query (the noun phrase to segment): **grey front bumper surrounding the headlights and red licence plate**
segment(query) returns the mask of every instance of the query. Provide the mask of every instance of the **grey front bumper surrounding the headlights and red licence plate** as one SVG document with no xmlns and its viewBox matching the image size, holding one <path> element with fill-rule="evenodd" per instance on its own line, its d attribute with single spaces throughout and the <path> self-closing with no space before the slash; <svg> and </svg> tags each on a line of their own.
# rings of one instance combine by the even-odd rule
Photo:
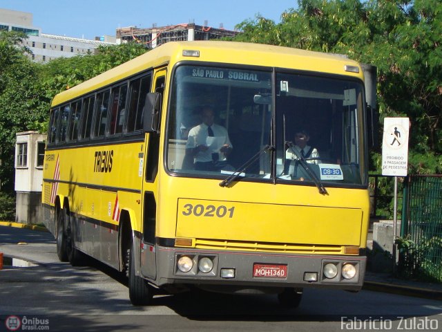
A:
<svg viewBox="0 0 442 332">
<path fill-rule="evenodd" d="M 154 284 L 160 287 L 182 284 L 236 288 L 323 287 L 358 291 L 363 286 L 367 261 L 367 257 L 356 255 L 294 255 L 162 246 L 157 246 L 156 254 L 157 275 Z M 177 268 L 177 260 L 182 256 L 190 257 L 193 261 L 193 267 L 187 273 Z M 202 273 L 198 269 L 198 261 L 203 257 L 213 261 L 213 269 L 209 273 Z M 330 263 L 335 264 L 338 271 L 333 278 L 327 278 L 323 273 L 324 266 Z M 343 277 L 342 267 L 345 264 L 352 264 L 356 268 L 356 275 L 352 279 Z M 285 272 L 256 271 L 262 266 L 273 267 L 276 270 L 285 266 Z M 222 277 L 222 269 L 234 270 L 234 277 Z M 312 275 L 316 275 L 316 281 L 311 281 Z M 309 277 L 307 280 L 306 276 Z"/>
</svg>

